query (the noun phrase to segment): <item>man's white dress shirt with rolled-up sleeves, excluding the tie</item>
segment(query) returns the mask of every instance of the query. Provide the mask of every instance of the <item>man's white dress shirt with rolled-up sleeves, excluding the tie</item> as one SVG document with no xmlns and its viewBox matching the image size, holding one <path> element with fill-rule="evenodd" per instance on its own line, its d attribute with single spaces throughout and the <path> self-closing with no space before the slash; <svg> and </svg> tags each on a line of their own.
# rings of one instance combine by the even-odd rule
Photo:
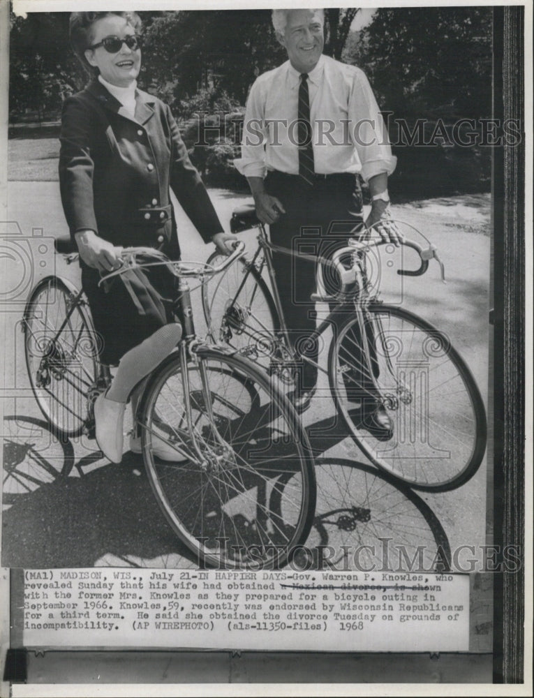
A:
<svg viewBox="0 0 534 698">
<path fill-rule="evenodd" d="M 245 177 L 265 177 L 268 170 L 298 174 L 299 83 L 290 61 L 255 80 L 246 104 L 242 156 L 234 161 Z M 366 181 L 380 172 L 391 174 L 396 158 L 363 71 L 322 55 L 308 84 L 316 173 L 359 172 Z"/>
</svg>

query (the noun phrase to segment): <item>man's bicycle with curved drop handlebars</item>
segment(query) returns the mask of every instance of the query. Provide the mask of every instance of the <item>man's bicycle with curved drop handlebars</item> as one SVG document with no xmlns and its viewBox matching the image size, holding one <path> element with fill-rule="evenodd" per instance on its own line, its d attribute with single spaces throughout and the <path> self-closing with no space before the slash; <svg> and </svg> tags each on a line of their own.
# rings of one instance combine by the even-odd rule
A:
<svg viewBox="0 0 534 698">
<path fill-rule="evenodd" d="M 290 385 L 298 362 L 315 363 L 292 348 L 276 288 L 272 252 L 292 252 L 269 242 L 253 205 L 235 209 L 230 227 L 235 233 L 258 228 L 258 246 L 251 259 L 240 258 L 215 284 L 203 288 L 209 335 Z M 352 232 L 363 228 L 362 221 Z M 332 327 L 327 371 L 315 365 L 328 374 L 337 413 L 371 463 L 416 489 L 448 491 L 470 480 L 482 462 L 487 440 L 484 403 L 468 366 L 443 332 L 373 295 L 369 253 L 387 243 L 373 238 L 372 232 L 360 242 L 349 239 L 331 259 L 302 255 L 320 262 L 319 270 L 334 272 L 329 274 L 332 279 L 318 274 L 320 285 L 326 279 L 334 289 L 311 297 L 329 302 L 331 308 L 334 304 L 309 340 L 318 341 Z M 420 267 L 398 269 L 398 274 L 420 276 L 429 260 L 436 259 L 445 281 L 434 246 L 423 248 L 409 239 L 403 246 L 417 252 Z M 214 253 L 208 262 L 214 264 L 218 257 Z M 391 438 L 373 436 L 367 428 L 366 400 L 387 411 L 394 425 Z"/>
</svg>

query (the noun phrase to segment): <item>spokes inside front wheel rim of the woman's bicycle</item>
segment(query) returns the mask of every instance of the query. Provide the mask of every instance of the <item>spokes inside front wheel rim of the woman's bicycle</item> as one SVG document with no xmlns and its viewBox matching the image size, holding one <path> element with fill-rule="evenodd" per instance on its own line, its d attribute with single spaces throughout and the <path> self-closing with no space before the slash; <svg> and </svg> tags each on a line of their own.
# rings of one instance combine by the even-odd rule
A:
<svg viewBox="0 0 534 698">
<path fill-rule="evenodd" d="M 263 563 L 272 566 L 288 554 L 303 517 L 309 518 L 304 509 L 309 472 L 296 437 L 288 443 L 272 440 L 280 419 L 286 428 L 295 425 L 273 408 L 267 378 L 256 369 L 233 369 L 241 359 L 215 355 L 207 352 L 201 363 L 188 367 L 188 422 L 194 427 L 183 436 L 195 440 L 195 449 L 188 452 L 191 460 L 172 468 L 151 459 L 151 484 L 173 528 L 199 554 L 246 567 L 258 562 L 250 552 L 253 546 Z M 258 376 L 251 380 L 247 371 Z M 207 389 L 202 389 L 203 375 Z M 152 403 L 170 434 L 180 431 L 173 419 L 183 419 L 183 408 L 177 408 L 186 404 L 182 391 L 181 372 L 169 371 Z"/>
</svg>

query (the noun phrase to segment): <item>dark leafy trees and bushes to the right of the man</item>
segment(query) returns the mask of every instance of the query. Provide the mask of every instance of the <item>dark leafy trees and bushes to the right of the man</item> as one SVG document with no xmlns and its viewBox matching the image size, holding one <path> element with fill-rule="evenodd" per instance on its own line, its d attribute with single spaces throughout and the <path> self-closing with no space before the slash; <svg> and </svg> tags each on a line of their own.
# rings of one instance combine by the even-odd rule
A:
<svg viewBox="0 0 534 698">
<path fill-rule="evenodd" d="M 392 112 L 396 195 L 489 188 L 490 149 L 455 142 L 452 124 L 472 119 L 476 133 L 477 119 L 491 116 L 491 22 L 488 7 L 381 8 L 357 43 L 348 41 L 348 58 L 364 68 L 378 103 Z"/>
</svg>

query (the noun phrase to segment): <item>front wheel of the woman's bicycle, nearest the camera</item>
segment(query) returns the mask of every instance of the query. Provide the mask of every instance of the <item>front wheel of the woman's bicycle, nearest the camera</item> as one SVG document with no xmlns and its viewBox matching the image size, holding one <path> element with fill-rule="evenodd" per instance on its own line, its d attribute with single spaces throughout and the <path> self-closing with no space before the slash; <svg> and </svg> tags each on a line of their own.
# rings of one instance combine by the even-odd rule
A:
<svg viewBox="0 0 534 698">
<path fill-rule="evenodd" d="M 316 500 L 306 433 L 251 362 L 204 347 L 184 371 L 171 355 L 139 422 L 151 487 L 199 564 L 281 567 L 306 539 Z M 175 450 L 165 461 L 162 442 Z"/>
</svg>

